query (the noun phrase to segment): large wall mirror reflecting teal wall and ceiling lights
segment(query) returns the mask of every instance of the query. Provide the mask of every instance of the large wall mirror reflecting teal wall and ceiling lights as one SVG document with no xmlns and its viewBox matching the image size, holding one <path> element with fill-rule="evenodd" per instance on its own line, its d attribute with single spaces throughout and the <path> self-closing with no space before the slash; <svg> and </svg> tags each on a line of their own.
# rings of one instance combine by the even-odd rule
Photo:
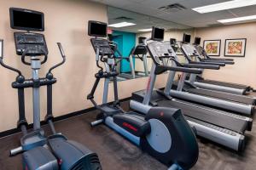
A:
<svg viewBox="0 0 256 170">
<path fill-rule="evenodd" d="M 153 61 L 143 40 L 151 37 L 152 26 L 166 29 L 166 43 L 170 43 L 170 38 L 182 41 L 183 33 L 194 35 L 194 29 L 189 26 L 108 6 L 108 38 L 113 42 L 116 55 L 122 57 L 117 65 L 118 81 L 148 77 L 150 74 Z M 178 54 L 181 55 L 180 52 Z"/>
</svg>

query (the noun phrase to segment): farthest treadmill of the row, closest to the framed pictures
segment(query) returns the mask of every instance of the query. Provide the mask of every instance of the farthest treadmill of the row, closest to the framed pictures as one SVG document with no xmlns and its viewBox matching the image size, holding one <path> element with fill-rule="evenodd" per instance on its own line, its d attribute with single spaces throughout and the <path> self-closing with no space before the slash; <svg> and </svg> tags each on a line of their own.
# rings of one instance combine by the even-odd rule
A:
<svg viewBox="0 0 256 170">
<path fill-rule="evenodd" d="M 201 54 L 201 57 L 203 57 L 203 60 L 225 60 L 225 61 L 233 61 L 233 59 L 223 59 L 223 58 L 211 58 L 204 48 L 200 46 L 201 38 L 195 37 L 195 48 L 199 54 Z M 195 84 L 198 87 L 201 88 L 210 88 L 210 89 L 216 89 L 219 91 L 229 92 L 232 94 L 248 94 L 252 88 L 248 85 L 244 84 L 238 84 L 238 83 L 232 83 L 232 82 L 220 82 L 215 80 L 207 80 L 203 77 L 197 76 L 195 79 Z"/>
</svg>

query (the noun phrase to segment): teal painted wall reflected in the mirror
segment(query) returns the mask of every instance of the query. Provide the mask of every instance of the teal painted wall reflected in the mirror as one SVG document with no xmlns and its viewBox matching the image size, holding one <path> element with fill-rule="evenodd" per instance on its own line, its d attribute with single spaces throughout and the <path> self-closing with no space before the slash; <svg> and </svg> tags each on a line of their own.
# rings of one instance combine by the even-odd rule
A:
<svg viewBox="0 0 256 170">
<path fill-rule="evenodd" d="M 136 45 L 136 34 L 125 31 L 113 31 L 113 42 L 118 43 L 119 52 L 123 57 L 129 57 L 131 48 Z M 133 65 L 135 60 L 133 60 Z M 130 63 L 125 59 L 121 61 L 120 72 L 131 72 Z"/>
</svg>

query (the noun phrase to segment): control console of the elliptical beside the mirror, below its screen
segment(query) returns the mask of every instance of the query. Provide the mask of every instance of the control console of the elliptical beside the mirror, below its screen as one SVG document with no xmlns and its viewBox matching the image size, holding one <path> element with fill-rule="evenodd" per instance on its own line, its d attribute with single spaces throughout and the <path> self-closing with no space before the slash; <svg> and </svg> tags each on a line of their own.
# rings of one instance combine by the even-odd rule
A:
<svg viewBox="0 0 256 170">
<path fill-rule="evenodd" d="M 95 50 L 95 53 L 97 51 L 97 48 L 100 50 L 100 55 L 109 55 L 113 54 L 113 50 L 110 48 L 108 40 L 107 39 L 100 39 L 100 38 L 91 38 L 90 42 L 92 44 L 92 47 Z"/>
</svg>

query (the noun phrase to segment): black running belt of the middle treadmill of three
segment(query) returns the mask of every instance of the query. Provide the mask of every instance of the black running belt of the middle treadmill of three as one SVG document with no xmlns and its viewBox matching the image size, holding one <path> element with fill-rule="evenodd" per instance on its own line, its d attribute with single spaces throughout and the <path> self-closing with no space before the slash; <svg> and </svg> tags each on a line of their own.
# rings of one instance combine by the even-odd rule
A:
<svg viewBox="0 0 256 170">
<path fill-rule="evenodd" d="M 256 99 L 253 99 L 247 96 L 237 95 L 237 94 L 228 94 L 228 93 L 212 91 L 212 90 L 207 90 L 202 88 L 189 88 L 188 92 L 192 94 L 200 94 L 200 95 L 205 95 L 208 97 L 213 97 L 218 99 L 226 99 L 226 100 L 238 102 L 241 104 L 247 104 L 247 105 L 255 105 L 256 103 Z"/>
</svg>

